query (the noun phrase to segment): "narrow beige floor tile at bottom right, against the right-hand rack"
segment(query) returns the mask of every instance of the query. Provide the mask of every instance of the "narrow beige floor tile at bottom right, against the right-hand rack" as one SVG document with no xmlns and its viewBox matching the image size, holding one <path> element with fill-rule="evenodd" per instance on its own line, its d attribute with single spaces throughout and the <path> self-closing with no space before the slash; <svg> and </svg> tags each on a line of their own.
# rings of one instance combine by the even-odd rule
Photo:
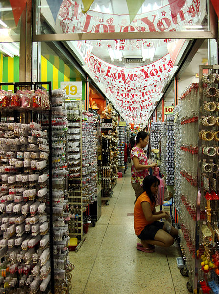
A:
<svg viewBox="0 0 219 294">
<path fill-rule="evenodd" d="M 190 292 L 186 288 L 186 283 L 189 281 L 189 278 L 181 275 L 180 269 L 177 267 L 176 257 L 168 256 L 167 258 L 176 294 L 189 294 Z"/>
</svg>

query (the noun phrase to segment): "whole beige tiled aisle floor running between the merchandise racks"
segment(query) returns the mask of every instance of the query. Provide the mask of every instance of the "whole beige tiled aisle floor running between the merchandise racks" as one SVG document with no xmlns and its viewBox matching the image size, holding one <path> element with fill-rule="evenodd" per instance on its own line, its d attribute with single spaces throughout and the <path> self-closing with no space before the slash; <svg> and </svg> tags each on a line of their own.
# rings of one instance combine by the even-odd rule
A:
<svg viewBox="0 0 219 294">
<path fill-rule="evenodd" d="M 70 294 L 187 294 L 180 274 L 178 248 L 156 247 L 154 253 L 136 249 L 133 228 L 134 191 L 130 168 L 118 179 L 109 206 L 90 227 L 80 250 L 70 252 L 75 265 Z"/>
</svg>

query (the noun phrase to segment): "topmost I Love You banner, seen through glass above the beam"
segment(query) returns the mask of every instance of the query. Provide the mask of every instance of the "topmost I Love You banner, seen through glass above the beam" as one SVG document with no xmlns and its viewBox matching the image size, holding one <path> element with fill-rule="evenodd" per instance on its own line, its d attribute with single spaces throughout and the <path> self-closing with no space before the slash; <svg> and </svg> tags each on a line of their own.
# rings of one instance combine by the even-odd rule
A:
<svg viewBox="0 0 219 294">
<path fill-rule="evenodd" d="M 178 7 L 179 2 L 185 3 L 177 10 L 177 15 L 173 15 L 171 7 Z M 199 5 L 200 0 L 171 0 L 171 7 L 165 5 L 156 11 L 137 14 L 129 23 L 128 14 L 115 15 L 92 10 L 83 14 L 77 2 L 64 0 L 58 17 L 63 33 L 180 31 L 199 21 Z"/>
</svg>

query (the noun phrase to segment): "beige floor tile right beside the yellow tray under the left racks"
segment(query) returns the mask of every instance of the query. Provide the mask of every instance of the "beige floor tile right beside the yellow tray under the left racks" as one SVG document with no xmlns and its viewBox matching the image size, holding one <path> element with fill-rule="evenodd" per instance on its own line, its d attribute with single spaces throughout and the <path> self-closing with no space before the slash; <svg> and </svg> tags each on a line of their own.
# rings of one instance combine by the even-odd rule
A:
<svg viewBox="0 0 219 294">
<path fill-rule="evenodd" d="M 99 222 L 99 221 L 98 221 Z M 78 252 L 71 251 L 70 255 L 77 256 L 96 256 L 103 241 L 107 225 L 96 223 L 95 227 L 89 227 L 88 233 L 83 237 L 86 238 Z"/>
</svg>

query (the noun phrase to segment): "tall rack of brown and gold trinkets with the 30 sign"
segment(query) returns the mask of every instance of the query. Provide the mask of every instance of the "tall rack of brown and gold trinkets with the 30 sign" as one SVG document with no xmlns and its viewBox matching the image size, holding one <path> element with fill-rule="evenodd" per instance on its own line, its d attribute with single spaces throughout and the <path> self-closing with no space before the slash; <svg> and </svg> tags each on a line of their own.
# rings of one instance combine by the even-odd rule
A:
<svg viewBox="0 0 219 294">
<path fill-rule="evenodd" d="M 102 199 L 109 200 L 118 173 L 118 117 L 109 104 L 101 115 L 102 132 Z"/>
</svg>

